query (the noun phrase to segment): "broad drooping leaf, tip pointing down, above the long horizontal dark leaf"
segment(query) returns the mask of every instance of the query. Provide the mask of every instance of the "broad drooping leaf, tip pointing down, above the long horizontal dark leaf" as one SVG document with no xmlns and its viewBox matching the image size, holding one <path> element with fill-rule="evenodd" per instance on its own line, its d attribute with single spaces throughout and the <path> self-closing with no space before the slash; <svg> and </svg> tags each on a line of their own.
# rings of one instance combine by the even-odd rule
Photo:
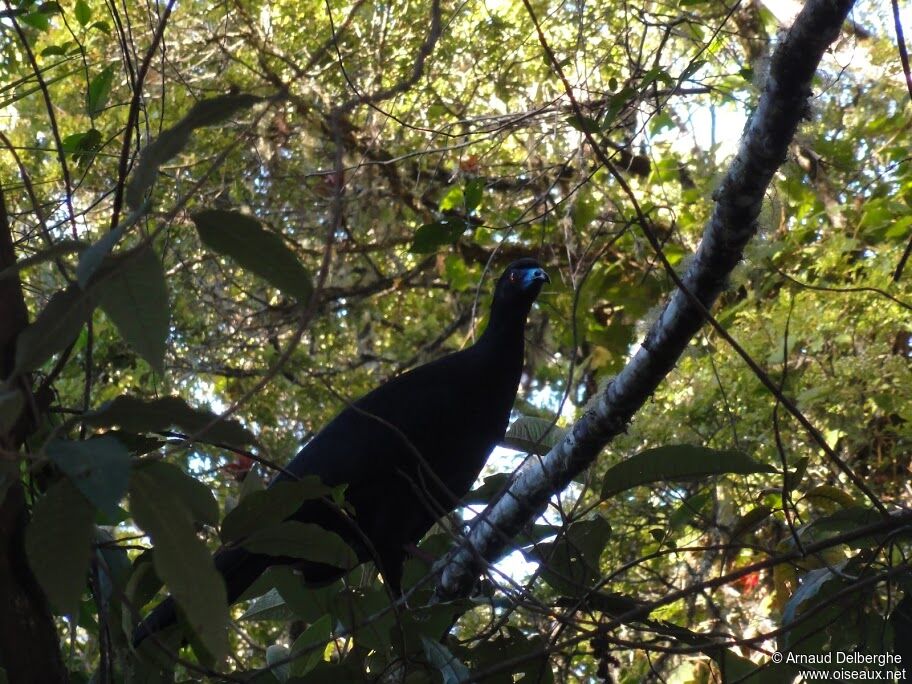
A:
<svg viewBox="0 0 912 684">
<path fill-rule="evenodd" d="M 164 375 L 171 309 L 158 255 L 147 247 L 136 255 L 109 261 L 117 262 L 111 275 L 93 287 L 98 303 L 124 341 L 159 375 Z"/>
</svg>

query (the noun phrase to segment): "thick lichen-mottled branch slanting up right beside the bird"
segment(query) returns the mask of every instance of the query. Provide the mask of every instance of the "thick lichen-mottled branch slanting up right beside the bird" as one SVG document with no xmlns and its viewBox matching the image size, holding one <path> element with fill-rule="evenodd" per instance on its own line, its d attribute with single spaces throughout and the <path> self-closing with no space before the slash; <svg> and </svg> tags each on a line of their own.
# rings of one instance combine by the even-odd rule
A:
<svg viewBox="0 0 912 684">
<path fill-rule="evenodd" d="M 757 217 L 773 174 L 785 160 L 798 124 L 808 113 L 811 81 L 824 51 L 838 36 L 851 0 L 809 0 L 776 49 L 769 76 L 741 139 L 740 149 L 715 194 L 716 206 L 683 285 L 709 309 L 725 289 Z M 487 562 L 533 520 L 574 476 L 624 431 L 634 414 L 677 363 L 704 324 L 700 308 L 676 290 L 634 358 L 541 459 L 531 461 L 509 490 L 488 507 L 466 543 L 442 564 L 439 598 L 466 595 Z"/>
</svg>

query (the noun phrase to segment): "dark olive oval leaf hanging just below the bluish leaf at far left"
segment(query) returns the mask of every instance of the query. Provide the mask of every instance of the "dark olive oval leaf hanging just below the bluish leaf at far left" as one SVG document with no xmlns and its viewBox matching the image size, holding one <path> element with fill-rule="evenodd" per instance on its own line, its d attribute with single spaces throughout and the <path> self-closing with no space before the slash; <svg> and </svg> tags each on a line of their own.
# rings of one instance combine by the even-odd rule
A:
<svg viewBox="0 0 912 684">
<path fill-rule="evenodd" d="M 95 513 L 67 478 L 51 485 L 35 504 L 25 534 L 29 565 L 51 604 L 75 615 L 86 586 Z"/>
</svg>

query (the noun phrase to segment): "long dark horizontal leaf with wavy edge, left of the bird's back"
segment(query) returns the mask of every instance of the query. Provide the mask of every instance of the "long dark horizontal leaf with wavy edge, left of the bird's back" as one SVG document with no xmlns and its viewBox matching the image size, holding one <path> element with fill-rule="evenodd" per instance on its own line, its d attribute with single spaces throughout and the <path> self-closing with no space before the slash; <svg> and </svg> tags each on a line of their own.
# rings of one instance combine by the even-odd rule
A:
<svg viewBox="0 0 912 684">
<path fill-rule="evenodd" d="M 215 418 L 215 413 L 191 408 L 180 397 L 146 401 L 123 395 L 105 403 L 97 411 L 85 414 L 82 420 L 96 427 L 118 425 L 127 432 L 160 432 L 177 426 L 187 434 L 196 434 Z M 232 446 L 256 442 L 256 437 L 247 428 L 231 418 L 219 421 L 207 429 L 204 438 Z"/>
</svg>

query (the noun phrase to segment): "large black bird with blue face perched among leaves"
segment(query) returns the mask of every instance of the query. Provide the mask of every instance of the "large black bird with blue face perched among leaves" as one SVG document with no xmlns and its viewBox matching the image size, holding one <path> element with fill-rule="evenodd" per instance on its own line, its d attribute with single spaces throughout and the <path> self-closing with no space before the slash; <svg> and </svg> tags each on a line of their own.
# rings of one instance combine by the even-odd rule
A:
<svg viewBox="0 0 912 684">
<path fill-rule="evenodd" d="M 288 519 L 339 534 L 359 563 L 373 561 L 391 592 L 401 595 L 407 550 L 460 505 L 504 437 L 523 371 L 526 320 L 550 282 L 535 259 L 514 261 L 497 280 L 488 324 L 474 344 L 396 376 L 343 409 L 269 487 L 315 475 L 329 487 L 345 485 L 353 513 L 309 500 Z M 229 605 L 273 565 L 294 564 L 314 586 L 346 572 L 238 544 L 223 546 L 214 561 Z M 176 621 L 168 597 L 136 627 L 134 647 Z"/>
</svg>

